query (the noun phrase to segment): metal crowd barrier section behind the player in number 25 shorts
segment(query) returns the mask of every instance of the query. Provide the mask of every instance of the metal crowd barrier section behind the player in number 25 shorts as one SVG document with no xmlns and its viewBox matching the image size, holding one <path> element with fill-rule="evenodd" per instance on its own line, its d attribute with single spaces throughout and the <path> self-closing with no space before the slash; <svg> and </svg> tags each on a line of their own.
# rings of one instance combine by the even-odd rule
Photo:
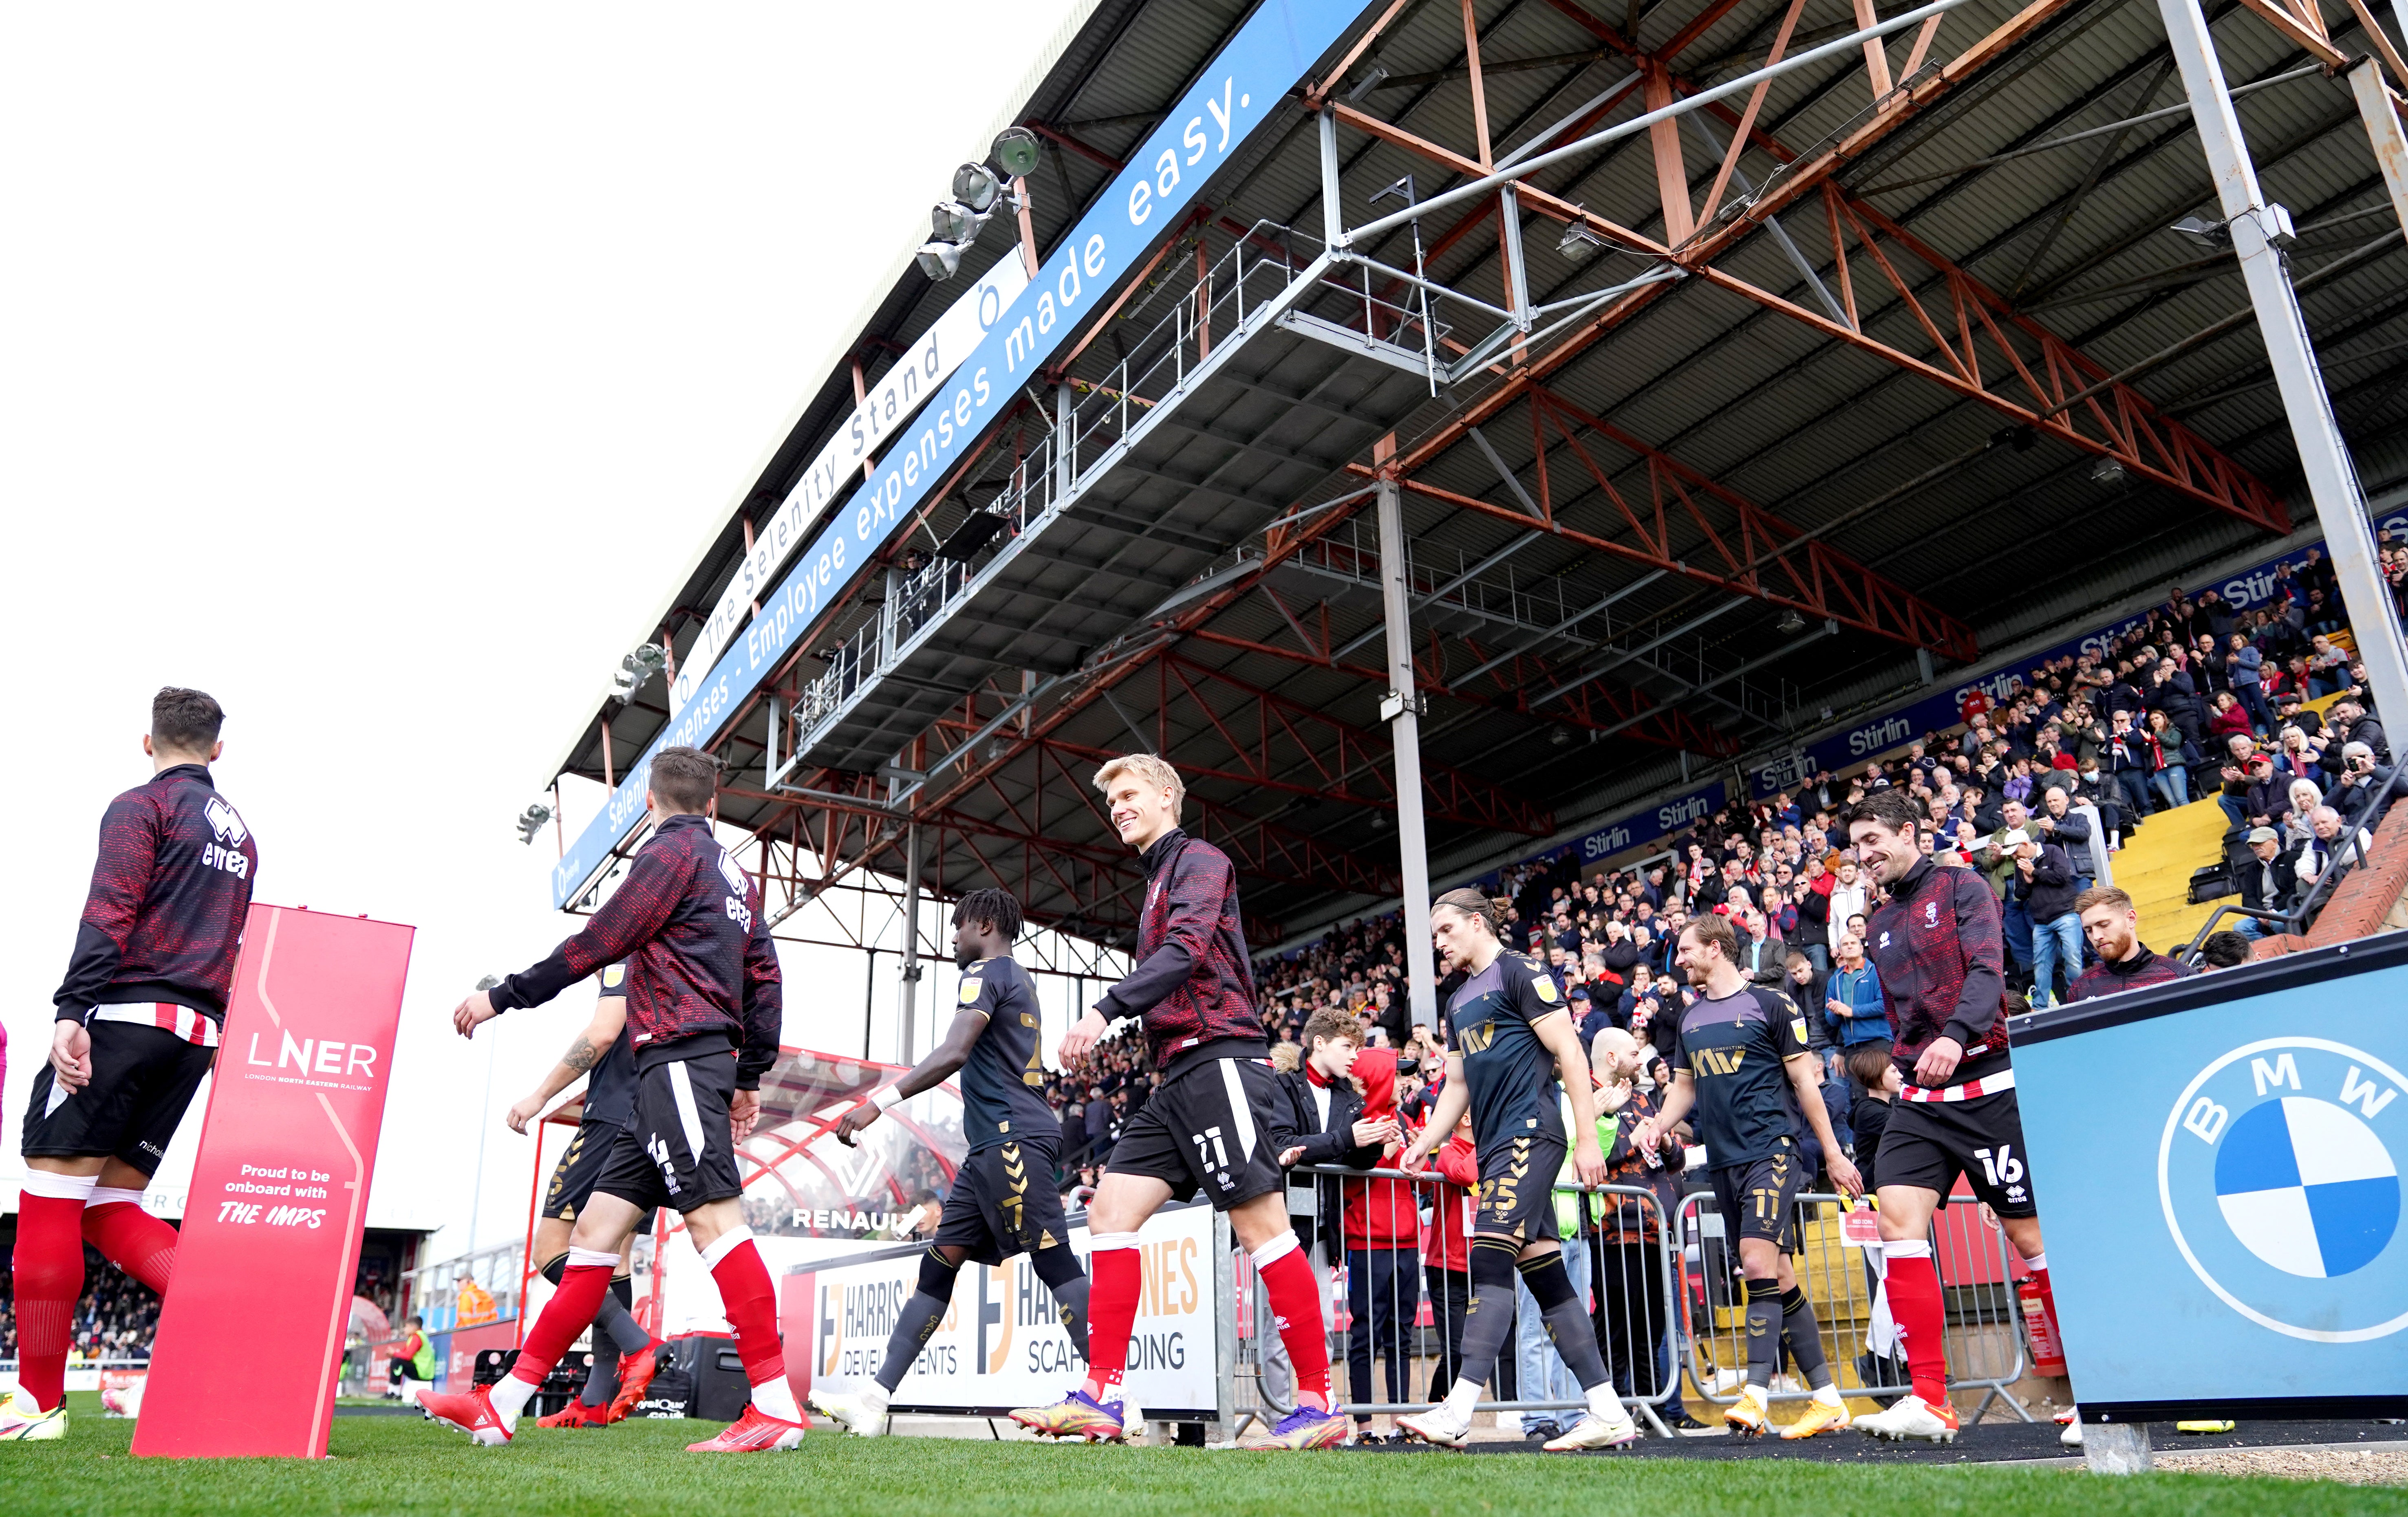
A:
<svg viewBox="0 0 2408 1517">
<path fill-rule="evenodd" d="M 1662 1409 L 1681 1394 L 1681 1295 L 1662 1199 L 1633 1185 L 1556 1185 L 1565 1269 L 1592 1303 L 1599 1351 L 1623 1406 L 1662 1438 Z M 1426 1411 L 1454 1385 L 1469 1276 L 1471 1190 L 1435 1173 L 1298 1165 L 1288 1177 L 1288 1216 L 1312 1250 L 1324 1286 L 1334 1411 L 1353 1418 Z M 1452 1209 L 1452 1218 L 1440 1209 Z M 1652 1235 L 1652 1240 L 1649 1240 Z M 1358 1245 L 1358 1247 L 1348 1247 Z M 1235 1252 L 1230 1293 L 1221 1303 L 1223 1425 L 1276 1423 L 1296 1399 L 1286 1348 L 1252 1262 Z M 1527 1288 L 1517 1291 L 1515 1332 L 1479 1411 L 1522 1413 L 1570 1428 L 1587 1401 L 1563 1368 Z M 1678 1411 L 1674 1411 L 1678 1416 Z"/>
</svg>

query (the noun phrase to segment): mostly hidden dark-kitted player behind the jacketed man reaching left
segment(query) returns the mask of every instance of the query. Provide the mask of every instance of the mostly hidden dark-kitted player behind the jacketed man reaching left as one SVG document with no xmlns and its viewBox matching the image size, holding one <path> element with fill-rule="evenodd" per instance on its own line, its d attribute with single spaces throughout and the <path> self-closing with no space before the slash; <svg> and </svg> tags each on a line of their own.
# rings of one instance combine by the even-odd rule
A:
<svg viewBox="0 0 2408 1517">
<path fill-rule="evenodd" d="M 535 1223 L 532 1257 L 542 1259 L 537 1274 L 554 1286 L 568 1269 L 568 1230 L 578 1211 L 595 1194 L 612 1146 L 628 1122 L 636 1120 L 636 1052 L 626 1031 L 626 966 L 612 963 L 595 975 L 602 994 L 595 997 L 595 1016 L 585 1031 L 568 1040 L 568 1052 L 544 1074 L 542 1084 L 518 1100 L 503 1117 L 510 1132 L 525 1134 L 527 1122 L 539 1122 L 551 1098 L 585 1079 L 585 1103 L 578 1108 L 578 1134 L 568 1139 L 568 1151 L 551 1170 L 544 1190 L 544 1216 Z M 660 1368 L 662 1344 L 653 1341 L 628 1310 L 636 1305 L 633 1252 L 636 1235 L 653 1230 L 653 1214 L 636 1221 L 636 1233 L 619 1250 L 609 1293 L 595 1312 L 595 1363 L 585 1373 L 585 1389 L 568 1406 L 542 1418 L 537 1428 L 607 1428 L 626 1418 L 653 1385 Z"/>
</svg>

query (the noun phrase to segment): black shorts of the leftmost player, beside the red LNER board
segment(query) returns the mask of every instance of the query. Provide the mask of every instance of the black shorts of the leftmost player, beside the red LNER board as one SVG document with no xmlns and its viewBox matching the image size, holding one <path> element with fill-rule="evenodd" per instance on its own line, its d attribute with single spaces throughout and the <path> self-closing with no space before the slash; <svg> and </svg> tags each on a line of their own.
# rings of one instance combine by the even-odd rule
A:
<svg viewBox="0 0 2408 1517">
<path fill-rule="evenodd" d="M 63 1088 L 48 1059 L 34 1074 L 19 1151 L 26 1158 L 123 1158 L 157 1175 L 217 1050 L 137 1021 L 94 1021 L 89 1033 L 92 1081 L 82 1091 Z"/>
</svg>

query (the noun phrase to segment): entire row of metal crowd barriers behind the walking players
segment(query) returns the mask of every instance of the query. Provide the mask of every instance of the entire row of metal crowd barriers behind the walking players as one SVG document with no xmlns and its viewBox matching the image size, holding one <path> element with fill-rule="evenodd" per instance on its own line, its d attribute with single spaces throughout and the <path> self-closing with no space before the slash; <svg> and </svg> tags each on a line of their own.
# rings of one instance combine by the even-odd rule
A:
<svg viewBox="0 0 2408 1517">
<path fill-rule="evenodd" d="M 1683 1194 L 1666 1226 L 1664 1199 L 1637 1185 L 1556 1185 L 1558 1238 L 1575 1291 L 1589 1303 L 1599 1356 L 1613 1389 L 1652 1433 L 1669 1438 L 1683 1394 L 1729 1406 L 1746 1377 L 1746 1312 L 1739 1305 L 1739 1250 L 1722 1228 L 1712 1192 Z M 1438 1175 L 1298 1165 L 1288 1214 L 1322 1279 L 1334 1411 L 1375 1416 L 1426 1411 L 1447 1394 L 1462 1358 L 1471 1298 L 1466 1206 L 1471 1190 Z M 1440 1209 L 1452 1206 L 1450 1221 Z M 1888 1399 L 1912 1389 L 1905 1351 L 1881 1295 L 1878 1245 L 1849 1242 L 1835 1194 L 1799 1197 L 1799 1286 L 1816 1308 L 1823 1353 L 1842 1394 Z M 1336 1216 L 1332 1216 L 1336 1211 Z M 1958 1221 L 1934 1218 L 1934 1267 L 1948 1303 L 1948 1382 L 1982 1392 L 1967 1421 L 1994 1401 L 2020 1418 L 2008 1392 L 2028 1365 L 2023 1305 L 2006 1233 L 1960 1202 Z M 1332 1247 L 1334 1245 L 1334 1247 Z M 1296 1404 L 1296 1377 L 1252 1264 L 1235 1252 L 1221 1305 L 1221 1365 L 1230 1435 L 1247 1421 L 1274 1423 Z M 1688 1385 L 1683 1387 L 1683 1375 Z M 1782 1375 L 1775 1401 L 1811 1387 Z M 1570 1425 L 1587 1409 L 1580 1385 L 1517 1288 L 1515 1332 L 1476 1404 Z M 1712 1418 L 1707 1418 L 1712 1421 Z"/>
</svg>

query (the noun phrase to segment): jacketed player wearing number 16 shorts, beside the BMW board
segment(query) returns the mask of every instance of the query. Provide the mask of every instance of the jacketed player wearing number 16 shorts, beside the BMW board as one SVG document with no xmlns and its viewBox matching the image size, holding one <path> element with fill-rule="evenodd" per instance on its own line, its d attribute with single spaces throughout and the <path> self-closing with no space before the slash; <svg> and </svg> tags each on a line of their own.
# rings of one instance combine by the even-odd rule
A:
<svg viewBox="0 0 2408 1517">
<path fill-rule="evenodd" d="M 1881 1132 L 1876 1170 L 1890 1315 L 1914 1373 L 1912 1397 L 1857 1418 L 1857 1428 L 1876 1438 L 1953 1442 L 1958 1413 L 1948 1404 L 1946 1310 L 1931 1262 L 1931 1214 L 1946 1206 L 1958 1175 L 1999 1214 L 1999 1226 L 2040 1286 L 2042 1308 L 2056 1317 L 2049 1257 L 2040 1247 L 2040 1206 L 2023 1161 L 2015 1067 L 2006 1050 L 1999 898 L 1972 869 L 1936 864 L 1922 852 L 1917 807 L 1905 790 L 1866 795 L 1840 824 L 1857 862 L 1888 891 L 1866 922 L 1873 939 L 1866 954 L 1881 970 L 1881 997 L 1898 1031 L 1890 1062 L 1905 1088 Z"/>
</svg>

